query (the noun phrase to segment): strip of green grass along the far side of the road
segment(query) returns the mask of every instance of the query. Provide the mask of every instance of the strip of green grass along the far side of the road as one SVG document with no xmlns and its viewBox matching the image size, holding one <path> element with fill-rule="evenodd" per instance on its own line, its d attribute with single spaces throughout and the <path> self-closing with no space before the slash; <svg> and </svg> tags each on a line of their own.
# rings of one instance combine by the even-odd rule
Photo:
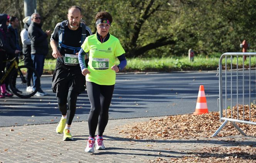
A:
<svg viewBox="0 0 256 163">
<path fill-rule="evenodd" d="M 255 67 L 256 59 L 251 57 L 251 67 Z M 118 60 L 116 61 L 118 64 Z M 52 74 L 56 65 L 56 59 L 45 59 L 44 74 Z M 239 68 L 243 67 L 243 58 L 238 59 Z M 225 66 L 225 58 L 222 67 Z M 232 58 L 233 69 L 236 68 L 236 57 Z M 217 70 L 219 56 L 196 56 L 193 62 L 187 57 L 169 58 L 127 58 L 127 66 L 122 72 L 172 72 L 172 71 L 209 71 Z M 230 69 L 230 57 L 227 59 L 227 68 Z M 249 57 L 245 61 L 245 67 L 249 67 Z"/>
</svg>

